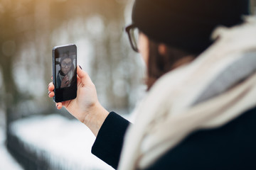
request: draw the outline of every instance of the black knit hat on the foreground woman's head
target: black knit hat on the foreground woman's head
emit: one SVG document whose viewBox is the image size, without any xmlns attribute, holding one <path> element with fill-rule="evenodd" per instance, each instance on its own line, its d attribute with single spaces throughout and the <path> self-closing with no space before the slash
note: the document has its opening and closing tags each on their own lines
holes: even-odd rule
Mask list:
<svg viewBox="0 0 256 170">
<path fill-rule="evenodd" d="M 136 0 L 135 26 L 149 38 L 187 52 L 203 52 L 217 26 L 242 23 L 248 0 Z"/>
</svg>

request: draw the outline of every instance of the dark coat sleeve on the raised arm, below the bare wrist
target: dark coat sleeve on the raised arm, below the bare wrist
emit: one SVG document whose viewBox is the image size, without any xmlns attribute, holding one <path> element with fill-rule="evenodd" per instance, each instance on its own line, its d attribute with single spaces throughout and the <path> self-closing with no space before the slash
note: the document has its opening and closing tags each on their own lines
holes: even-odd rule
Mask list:
<svg viewBox="0 0 256 170">
<path fill-rule="evenodd" d="M 110 112 L 92 145 L 92 154 L 117 169 L 129 121 Z"/>
</svg>

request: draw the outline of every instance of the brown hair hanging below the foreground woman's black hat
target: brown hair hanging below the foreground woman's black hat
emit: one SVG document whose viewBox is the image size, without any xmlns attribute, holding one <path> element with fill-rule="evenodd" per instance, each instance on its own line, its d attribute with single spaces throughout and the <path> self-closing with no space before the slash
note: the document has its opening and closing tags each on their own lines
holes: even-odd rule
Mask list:
<svg viewBox="0 0 256 170">
<path fill-rule="evenodd" d="M 148 90 L 155 81 L 167 72 L 179 67 L 181 64 L 191 62 L 198 54 L 167 46 L 166 55 L 159 54 L 161 43 L 149 39 L 149 61 L 147 66 L 146 85 Z"/>
</svg>

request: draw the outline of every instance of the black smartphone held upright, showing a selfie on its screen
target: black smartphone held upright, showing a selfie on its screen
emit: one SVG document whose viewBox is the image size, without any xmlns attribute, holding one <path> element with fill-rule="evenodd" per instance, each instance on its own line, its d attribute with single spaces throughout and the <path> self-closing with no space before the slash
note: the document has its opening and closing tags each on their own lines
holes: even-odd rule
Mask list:
<svg viewBox="0 0 256 170">
<path fill-rule="evenodd" d="M 53 47 L 53 84 L 55 102 L 68 101 L 77 96 L 77 47 Z"/>
</svg>

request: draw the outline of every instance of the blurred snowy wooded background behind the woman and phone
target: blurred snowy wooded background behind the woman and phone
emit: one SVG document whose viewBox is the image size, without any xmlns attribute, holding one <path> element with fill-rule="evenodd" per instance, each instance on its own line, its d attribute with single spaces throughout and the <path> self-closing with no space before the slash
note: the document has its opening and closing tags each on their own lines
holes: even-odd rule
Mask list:
<svg viewBox="0 0 256 170">
<path fill-rule="evenodd" d="M 73 43 L 100 103 L 129 118 L 146 89 L 144 63 L 124 33 L 132 3 L 0 0 L 0 169 L 111 169 L 90 154 L 90 130 L 58 111 L 47 87 L 53 47 Z"/>
</svg>

